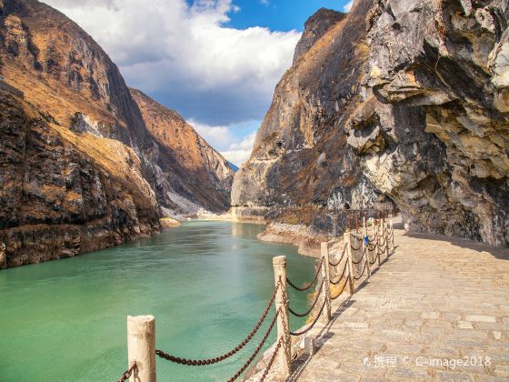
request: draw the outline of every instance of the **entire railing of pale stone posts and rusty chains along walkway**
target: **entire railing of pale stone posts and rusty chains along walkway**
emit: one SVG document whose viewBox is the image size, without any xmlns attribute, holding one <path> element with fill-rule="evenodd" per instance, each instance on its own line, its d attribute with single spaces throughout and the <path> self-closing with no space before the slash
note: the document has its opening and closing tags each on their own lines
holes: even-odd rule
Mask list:
<svg viewBox="0 0 509 382">
<path fill-rule="evenodd" d="M 358 226 L 354 233 L 350 230 L 344 233 L 344 247 L 336 261 L 331 261 L 332 256 L 329 253 L 327 243 L 322 243 L 321 256 L 313 279 L 302 287 L 296 286 L 290 278 L 286 277 L 286 257 L 274 257 L 274 291 L 260 319 L 256 322 L 255 327 L 253 327 L 249 334 L 236 347 L 221 356 L 193 359 L 176 357 L 163 350 L 155 349 L 155 318 L 152 316 L 127 317 L 128 362 L 130 367 L 125 370 L 118 381 L 124 382 L 130 379 L 131 381 L 142 380 L 146 382 L 155 382 L 155 356 L 175 364 L 189 367 L 206 367 L 223 362 L 240 352 L 255 337 L 273 306 L 275 314 L 270 324 L 268 324 L 264 336 L 255 347 L 250 357 L 247 358 L 244 365 L 240 367 L 235 375 L 229 378 L 228 381 L 235 381 L 245 373 L 255 358 L 258 357 L 267 338 L 273 332 L 274 327 L 277 328 L 277 340 L 272 355 L 264 368 L 261 380 L 264 381 L 268 376 L 270 369 L 274 366 L 276 357 L 279 357 L 279 362 L 276 363 L 278 366 L 278 375 L 283 378 L 288 377 L 292 361 L 291 337 L 303 336 L 310 332 L 318 320 L 323 317 L 324 311 L 324 317 L 330 320 L 331 301 L 340 297 L 344 293 L 346 286 L 350 288 L 350 295 L 354 295 L 355 282 L 361 280 L 366 272 L 369 279 L 371 277 L 371 266 L 374 266 L 376 262 L 378 262 L 378 266 L 381 265 L 381 255 L 385 254 L 388 257 L 391 252 L 394 252 L 394 228 L 392 221 L 390 225 L 387 225 L 384 219 L 374 219 L 370 223 L 371 226 L 367 226 L 364 218 L 362 233 L 359 232 Z M 359 238 L 359 235 L 362 235 L 362 238 Z M 353 244 L 353 238 L 355 245 Z M 359 241 L 361 243 L 360 246 L 358 245 Z M 360 254 L 360 257 L 355 260 L 353 259 L 354 252 L 357 253 L 357 255 Z M 331 267 L 332 273 L 334 273 L 334 279 L 331 275 Z M 343 269 L 341 273 L 336 272 L 338 267 Z M 319 277 L 321 281 L 318 284 L 316 282 Z M 316 285 L 315 296 L 310 307 L 303 313 L 294 311 L 294 309 L 290 307 L 286 287 L 292 286 L 297 291 L 307 291 L 314 285 Z M 334 296 L 331 295 L 331 286 L 337 286 L 339 288 L 339 292 L 336 292 Z M 317 310 L 317 307 L 320 307 L 320 309 Z M 315 314 L 313 312 L 315 312 Z M 289 313 L 296 317 L 308 317 L 314 314 L 314 317 L 309 324 L 301 329 L 290 331 Z"/>
</svg>

